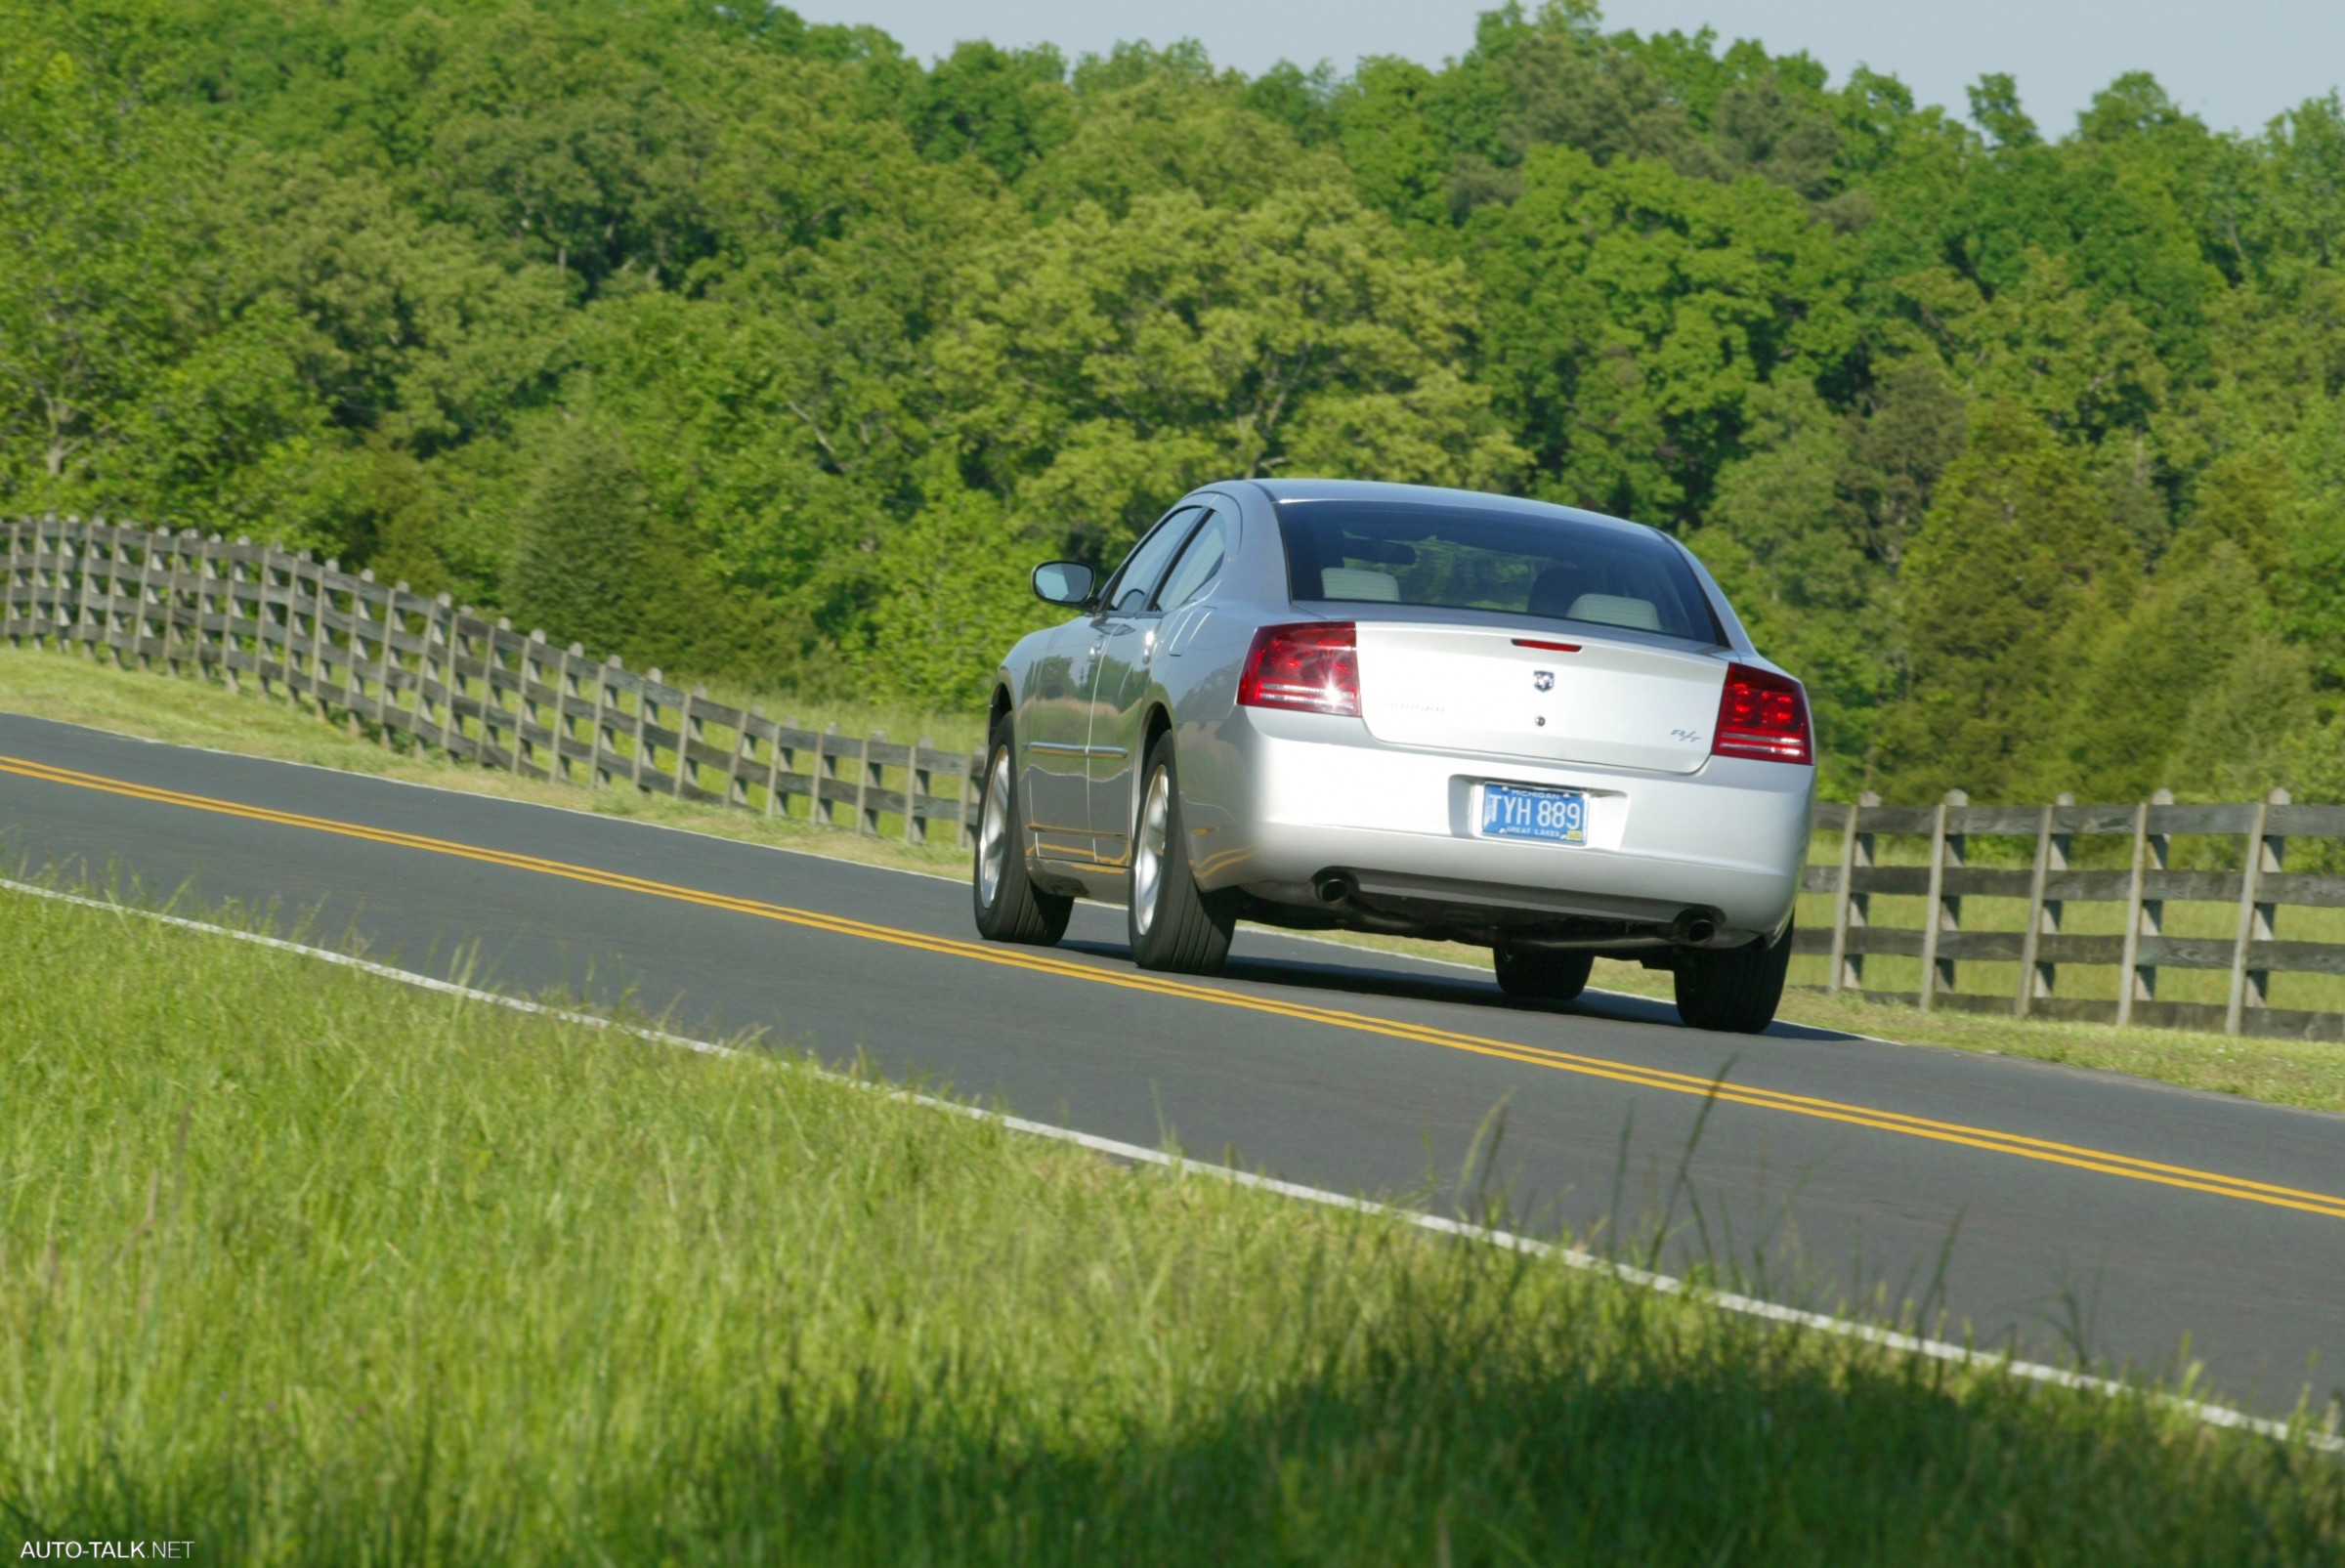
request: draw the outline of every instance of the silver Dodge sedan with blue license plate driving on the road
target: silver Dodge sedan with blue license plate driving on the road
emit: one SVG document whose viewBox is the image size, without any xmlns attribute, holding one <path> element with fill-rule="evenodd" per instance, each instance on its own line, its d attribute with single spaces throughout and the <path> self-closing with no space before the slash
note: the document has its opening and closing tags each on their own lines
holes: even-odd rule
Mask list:
<svg viewBox="0 0 2345 1568">
<path fill-rule="evenodd" d="M 1180 502 L 994 675 L 978 930 L 1130 909 L 1142 968 L 1238 919 L 1489 947 L 1515 996 L 1595 956 L 1702 1029 L 1775 1015 L 1808 698 L 1651 527 L 1463 490 L 1233 480 Z"/>
</svg>

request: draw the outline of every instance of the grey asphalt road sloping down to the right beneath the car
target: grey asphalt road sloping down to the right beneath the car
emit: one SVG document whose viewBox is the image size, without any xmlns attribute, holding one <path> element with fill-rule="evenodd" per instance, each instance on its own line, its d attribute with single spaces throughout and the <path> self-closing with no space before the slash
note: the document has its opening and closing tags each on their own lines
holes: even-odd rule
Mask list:
<svg viewBox="0 0 2345 1568">
<path fill-rule="evenodd" d="M 277 905 L 431 975 L 476 949 L 476 984 L 631 994 L 685 1031 L 861 1050 L 1313 1186 L 1503 1193 L 1508 1223 L 1639 1256 L 1665 1235 L 1665 1266 L 1794 1305 L 1928 1298 L 2038 1359 L 2171 1371 L 2188 1345 L 2244 1406 L 2345 1397 L 2338 1116 L 1822 1029 L 1710 1036 L 1627 996 L 1522 1005 L 1487 970 L 1252 928 L 1222 980 L 1144 977 L 1121 909 L 1079 907 L 1055 952 L 992 947 L 961 881 L 0 715 L 19 865 Z"/>
</svg>

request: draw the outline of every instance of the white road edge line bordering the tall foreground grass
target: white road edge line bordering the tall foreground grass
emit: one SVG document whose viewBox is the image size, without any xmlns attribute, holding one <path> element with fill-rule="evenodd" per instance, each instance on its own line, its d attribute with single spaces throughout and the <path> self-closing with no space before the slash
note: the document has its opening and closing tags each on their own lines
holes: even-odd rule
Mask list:
<svg viewBox="0 0 2345 1568">
<path fill-rule="evenodd" d="M 668 1034 L 664 1029 L 643 1029 L 635 1024 L 617 1024 L 610 1017 L 596 1013 L 579 1013 L 572 1008 L 551 1008 L 539 1001 L 528 1001 L 523 996 L 507 996 L 502 991 L 483 991 L 478 987 L 457 984 L 453 980 L 434 980 L 429 975 L 417 975 L 413 970 L 394 968 L 389 963 L 375 963 L 373 959 L 359 959 L 354 954 L 338 954 L 328 947 L 310 947 L 307 942 L 288 942 L 286 938 L 260 935 L 258 930 L 237 930 L 235 926 L 216 926 L 211 921 L 195 921 L 183 914 L 164 914 L 159 909 L 138 909 L 134 905 L 122 905 L 106 898 L 84 898 L 80 893 L 63 893 L 59 888 L 42 888 L 38 884 L 16 881 L 12 877 L 0 877 L 0 888 L 12 893 L 26 893 L 30 898 L 47 898 L 63 905 L 80 905 L 84 909 L 103 909 L 106 914 L 131 914 L 148 921 L 159 921 L 164 926 L 178 926 L 183 930 L 202 930 L 206 935 L 220 935 L 237 942 L 251 942 L 256 947 L 274 947 L 277 952 L 303 954 L 305 959 L 319 959 L 324 963 L 340 963 L 342 968 L 363 970 L 382 980 L 396 980 L 399 984 L 413 984 L 424 991 L 441 991 L 446 996 L 462 996 L 467 1001 L 488 1003 L 492 1008 L 511 1008 L 514 1013 L 532 1013 L 539 1017 L 560 1020 L 567 1024 L 584 1024 L 586 1029 L 619 1029 L 624 1034 L 652 1041 L 659 1045 L 675 1045 L 711 1057 L 739 1057 L 746 1055 L 734 1045 L 720 1045 L 715 1041 L 694 1041 L 680 1034 Z M 919 1095 L 915 1090 L 891 1090 L 886 1085 L 868 1083 L 863 1078 L 851 1078 L 847 1073 L 816 1066 L 811 1062 L 795 1064 L 802 1071 L 818 1073 L 832 1083 L 844 1083 L 858 1090 L 872 1090 L 889 1095 L 893 1099 L 905 1099 L 931 1111 L 947 1111 L 952 1116 L 966 1116 L 973 1120 L 994 1123 L 1008 1132 L 1025 1132 L 1032 1137 L 1053 1139 L 1060 1144 L 1074 1144 L 1076 1148 L 1088 1148 L 1093 1153 L 1104 1153 L 1119 1160 L 1135 1160 L 1142 1165 L 1161 1165 L 1175 1174 L 1198 1174 L 1219 1181 L 1231 1181 L 1236 1186 L 1257 1188 L 1264 1193 L 1276 1193 L 1280 1198 L 1294 1198 L 1299 1202 L 1316 1202 L 1330 1209 L 1353 1209 L 1358 1214 L 1381 1214 L 1398 1219 L 1402 1223 L 1416 1226 L 1419 1230 L 1430 1230 L 1435 1235 L 1454 1235 L 1470 1242 L 1482 1242 L 1489 1247 L 1501 1247 L 1505 1252 L 1522 1252 L 1541 1259 L 1557 1259 L 1569 1268 L 1611 1275 L 1623 1284 L 1637 1284 L 1642 1289 L 1658 1291 L 1663 1296 L 1686 1296 L 1691 1301 L 1707 1301 L 1710 1305 L 1724 1308 L 1728 1313 L 1740 1313 L 1745 1317 L 1759 1317 L 1763 1322 L 1817 1329 L 1824 1334 L 1836 1334 L 1843 1338 L 1855 1338 L 1867 1345 L 1878 1345 L 1883 1350 L 1895 1350 L 1902 1355 L 1921 1355 L 1935 1362 L 1951 1362 L 1956 1366 L 1974 1366 L 1984 1371 L 2003 1371 L 2014 1378 L 2026 1378 L 2031 1383 L 2047 1383 L 2052 1388 L 2071 1388 L 2096 1395 L 2139 1395 L 2155 1399 L 2169 1409 L 2176 1409 L 2193 1420 L 2202 1420 L 2211 1427 L 2228 1427 L 2239 1432 L 2256 1432 L 2261 1437 L 2277 1437 L 2282 1441 L 2300 1441 L 2319 1453 L 2345 1453 L 2345 1437 L 2336 1432 L 2336 1411 L 2329 1416 L 2326 1427 L 2291 1425 L 2284 1420 L 2272 1420 L 2268 1416 L 2249 1416 L 2247 1411 L 2235 1411 L 2225 1404 L 2207 1404 L 2202 1399 L 2186 1399 L 2181 1395 L 2167 1395 L 2157 1390 L 2129 1388 L 2113 1378 L 2094 1378 L 2080 1371 L 2068 1371 L 2064 1366 L 2047 1366 L 2042 1362 L 2021 1362 L 2010 1355 L 1996 1355 L 1989 1350 L 1972 1350 L 1970 1345 L 1956 1345 L 1942 1338 L 1923 1338 L 1918 1334 L 1902 1334 L 1897 1329 L 1881 1329 L 1864 1322 L 1853 1322 L 1846 1317 L 1831 1317 L 1827 1313 L 1806 1313 L 1801 1308 L 1787 1308 L 1775 1301 L 1763 1301 L 1759 1296 L 1742 1296 L 1738 1291 L 1717 1291 L 1698 1284 L 1688 1284 L 1674 1275 L 1660 1275 L 1646 1268 L 1634 1268 L 1630 1263 L 1616 1263 L 1602 1259 L 1583 1247 L 1566 1247 L 1559 1242 L 1543 1242 L 1538 1238 L 1517 1235 L 1513 1230 L 1494 1230 L 1489 1226 L 1475 1226 L 1461 1219 L 1445 1219 L 1440 1214 L 1423 1214 L 1416 1209 L 1402 1209 L 1369 1198 L 1346 1198 L 1344 1193 L 1330 1193 L 1316 1186 L 1301 1186 L 1297 1181 L 1278 1181 L 1276 1177 L 1262 1177 L 1245 1170 L 1233 1170 L 1229 1165 L 1205 1165 L 1189 1160 L 1184 1155 L 1165 1153 L 1161 1148 L 1142 1148 L 1140 1144 L 1123 1144 L 1119 1139 L 1100 1137 L 1095 1132 L 1076 1132 L 1074 1127 L 1055 1127 L 1051 1123 L 1025 1120 L 1022 1116 L 1004 1116 L 1001 1111 L 987 1111 L 983 1106 L 968 1106 L 952 1099 L 938 1099 L 936 1095 Z"/>
</svg>

